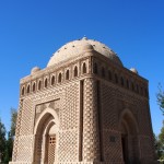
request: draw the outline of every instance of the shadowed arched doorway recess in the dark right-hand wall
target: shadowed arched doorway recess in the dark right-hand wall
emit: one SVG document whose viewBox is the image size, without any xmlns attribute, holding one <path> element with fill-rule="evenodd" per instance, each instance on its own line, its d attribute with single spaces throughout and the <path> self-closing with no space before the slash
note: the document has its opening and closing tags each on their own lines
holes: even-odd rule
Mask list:
<svg viewBox="0 0 164 164">
<path fill-rule="evenodd" d="M 122 160 L 126 164 L 137 164 L 140 161 L 138 124 L 129 109 L 125 109 L 121 113 L 119 129 L 121 132 Z"/>
</svg>

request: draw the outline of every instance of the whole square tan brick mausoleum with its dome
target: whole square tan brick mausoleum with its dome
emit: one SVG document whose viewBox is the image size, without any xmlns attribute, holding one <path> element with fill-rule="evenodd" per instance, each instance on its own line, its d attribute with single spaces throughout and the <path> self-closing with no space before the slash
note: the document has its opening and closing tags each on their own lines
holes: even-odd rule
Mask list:
<svg viewBox="0 0 164 164">
<path fill-rule="evenodd" d="M 21 80 L 10 164 L 155 163 L 148 80 L 83 37 Z"/>
</svg>

